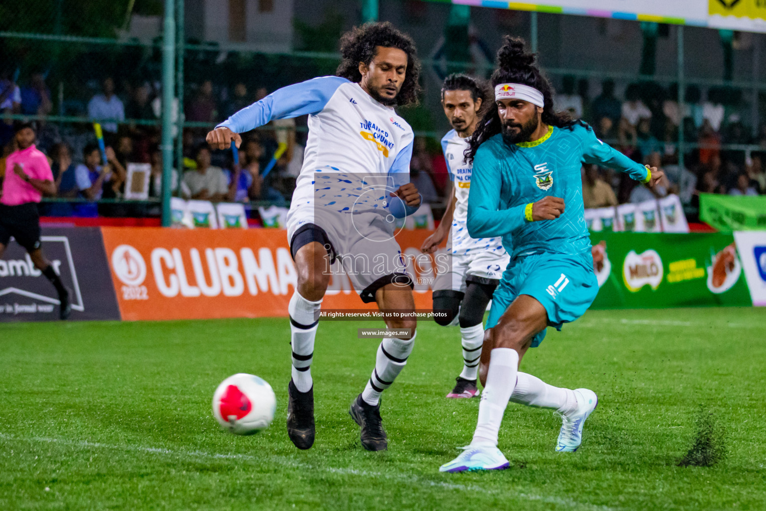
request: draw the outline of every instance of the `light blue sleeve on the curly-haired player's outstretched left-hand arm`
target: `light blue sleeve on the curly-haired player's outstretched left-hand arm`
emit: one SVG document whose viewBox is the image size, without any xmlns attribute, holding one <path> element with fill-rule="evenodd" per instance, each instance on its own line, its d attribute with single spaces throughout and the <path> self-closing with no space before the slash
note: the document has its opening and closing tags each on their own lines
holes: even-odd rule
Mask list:
<svg viewBox="0 0 766 511">
<path fill-rule="evenodd" d="M 234 133 L 244 133 L 264 126 L 270 120 L 290 119 L 320 112 L 342 84 L 342 77 L 319 77 L 293 84 L 270 93 L 263 100 L 243 108 L 215 127 L 227 127 Z"/>
</svg>

